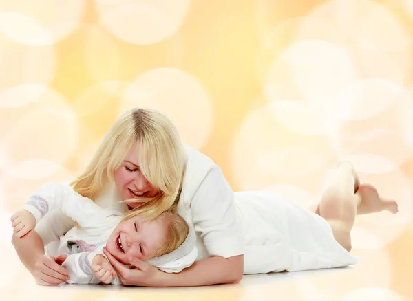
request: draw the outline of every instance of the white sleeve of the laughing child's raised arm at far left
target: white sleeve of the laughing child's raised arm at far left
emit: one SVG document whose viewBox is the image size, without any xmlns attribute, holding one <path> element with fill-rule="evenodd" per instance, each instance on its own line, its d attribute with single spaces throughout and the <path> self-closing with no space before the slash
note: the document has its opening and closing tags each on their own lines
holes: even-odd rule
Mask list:
<svg viewBox="0 0 413 301">
<path fill-rule="evenodd" d="M 28 210 L 39 222 L 45 214 L 59 210 L 81 227 L 96 226 L 96 221 L 109 216 L 92 200 L 82 197 L 65 183 L 46 183 L 30 197 L 23 210 Z"/>
</svg>

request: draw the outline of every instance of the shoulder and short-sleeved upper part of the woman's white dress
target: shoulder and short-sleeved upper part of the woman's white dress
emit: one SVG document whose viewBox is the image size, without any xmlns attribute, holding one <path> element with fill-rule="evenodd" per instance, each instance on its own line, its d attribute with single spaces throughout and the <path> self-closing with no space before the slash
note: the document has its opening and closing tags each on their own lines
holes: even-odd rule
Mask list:
<svg viewBox="0 0 413 301">
<path fill-rule="evenodd" d="M 197 233 L 198 260 L 242 255 L 240 216 L 231 186 L 209 157 L 193 148 L 187 148 L 187 154 L 177 212 Z"/>
</svg>

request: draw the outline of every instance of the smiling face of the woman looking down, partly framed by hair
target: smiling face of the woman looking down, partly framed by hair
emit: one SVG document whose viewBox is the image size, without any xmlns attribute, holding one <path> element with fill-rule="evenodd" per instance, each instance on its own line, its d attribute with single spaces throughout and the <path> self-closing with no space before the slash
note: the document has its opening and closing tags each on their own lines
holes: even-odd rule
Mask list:
<svg viewBox="0 0 413 301">
<path fill-rule="evenodd" d="M 114 172 L 114 179 L 118 192 L 123 199 L 142 199 L 156 197 L 159 190 L 142 175 L 139 168 L 140 143 L 136 142 L 122 165 Z M 129 207 L 136 208 L 140 203 L 127 203 Z"/>
</svg>

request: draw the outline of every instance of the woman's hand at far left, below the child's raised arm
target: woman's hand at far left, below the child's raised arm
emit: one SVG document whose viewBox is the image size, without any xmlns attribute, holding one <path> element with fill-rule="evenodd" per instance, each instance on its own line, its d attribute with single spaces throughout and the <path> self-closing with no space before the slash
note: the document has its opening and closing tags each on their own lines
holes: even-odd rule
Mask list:
<svg viewBox="0 0 413 301">
<path fill-rule="evenodd" d="M 62 267 L 66 260 L 66 255 L 62 254 L 57 257 L 42 255 L 34 263 L 30 271 L 38 285 L 59 285 L 69 280 L 67 269 Z"/>
</svg>

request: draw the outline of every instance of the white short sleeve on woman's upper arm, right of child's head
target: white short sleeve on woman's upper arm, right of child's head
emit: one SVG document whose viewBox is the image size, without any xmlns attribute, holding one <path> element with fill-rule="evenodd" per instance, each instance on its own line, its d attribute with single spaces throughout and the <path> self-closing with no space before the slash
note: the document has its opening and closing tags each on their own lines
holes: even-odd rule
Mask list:
<svg viewBox="0 0 413 301">
<path fill-rule="evenodd" d="M 242 255 L 240 223 L 234 193 L 220 168 L 213 168 L 204 178 L 191 201 L 195 231 L 209 256 L 224 258 Z"/>
</svg>

